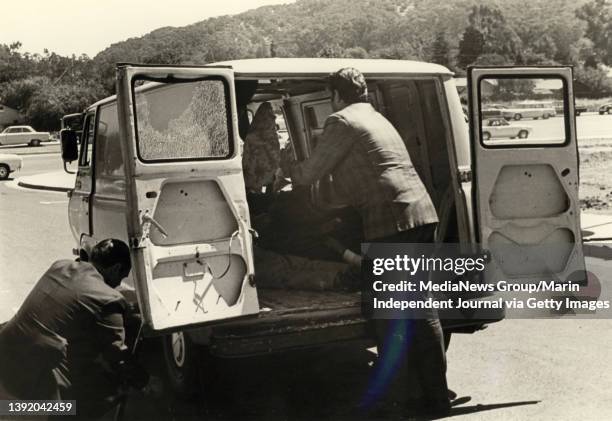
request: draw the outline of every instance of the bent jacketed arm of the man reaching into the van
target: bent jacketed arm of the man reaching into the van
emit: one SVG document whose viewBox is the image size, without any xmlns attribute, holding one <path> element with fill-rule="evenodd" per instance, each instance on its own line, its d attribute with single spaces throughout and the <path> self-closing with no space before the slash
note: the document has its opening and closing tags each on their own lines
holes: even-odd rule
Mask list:
<svg viewBox="0 0 612 421">
<path fill-rule="evenodd" d="M 344 120 L 335 116 L 328 118 L 323 134 L 310 158 L 291 166 L 293 184 L 312 184 L 330 174 L 353 145 L 349 130 Z"/>
</svg>

